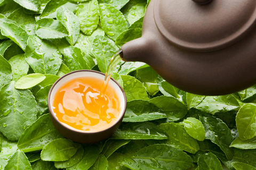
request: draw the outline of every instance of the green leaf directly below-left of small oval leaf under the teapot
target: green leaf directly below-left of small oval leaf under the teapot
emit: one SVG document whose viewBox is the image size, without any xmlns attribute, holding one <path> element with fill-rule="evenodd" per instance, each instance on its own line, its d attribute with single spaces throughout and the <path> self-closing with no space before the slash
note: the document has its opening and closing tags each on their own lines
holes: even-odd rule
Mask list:
<svg viewBox="0 0 256 170">
<path fill-rule="evenodd" d="M 197 141 L 190 137 L 181 125 L 177 123 L 164 123 L 160 124 L 159 127 L 164 130 L 169 137 L 167 141 L 161 141 L 161 143 L 166 143 L 167 145 L 185 150 L 191 154 L 195 154 L 199 150 Z"/>
</svg>

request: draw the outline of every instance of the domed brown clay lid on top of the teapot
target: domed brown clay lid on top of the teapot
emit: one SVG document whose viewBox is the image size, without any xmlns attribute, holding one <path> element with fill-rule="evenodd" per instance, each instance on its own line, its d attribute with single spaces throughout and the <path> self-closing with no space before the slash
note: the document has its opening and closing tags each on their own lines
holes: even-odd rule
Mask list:
<svg viewBox="0 0 256 170">
<path fill-rule="evenodd" d="M 174 45 L 195 52 L 225 48 L 256 24 L 255 0 L 155 1 L 158 30 Z"/>
</svg>

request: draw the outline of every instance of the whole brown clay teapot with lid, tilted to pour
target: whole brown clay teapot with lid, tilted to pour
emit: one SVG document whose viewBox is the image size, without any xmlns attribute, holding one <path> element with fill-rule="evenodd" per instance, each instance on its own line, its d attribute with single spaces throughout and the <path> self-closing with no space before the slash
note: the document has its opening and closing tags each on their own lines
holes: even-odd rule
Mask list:
<svg viewBox="0 0 256 170">
<path fill-rule="evenodd" d="M 124 61 L 149 64 L 173 86 L 230 94 L 256 83 L 255 0 L 151 0 Z"/>
</svg>

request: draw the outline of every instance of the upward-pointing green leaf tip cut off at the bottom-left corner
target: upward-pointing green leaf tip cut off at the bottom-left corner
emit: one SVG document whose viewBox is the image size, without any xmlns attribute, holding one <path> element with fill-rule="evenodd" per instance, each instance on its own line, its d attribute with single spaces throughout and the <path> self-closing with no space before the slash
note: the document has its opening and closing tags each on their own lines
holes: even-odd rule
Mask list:
<svg viewBox="0 0 256 170">
<path fill-rule="evenodd" d="M 28 169 L 32 170 L 31 165 L 28 161 L 28 158 L 24 152 L 18 150 L 15 152 L 12 157 L 8 160 L 4 169 L 13 169 L 13 170 L 23 170 Z"/>
</svg>

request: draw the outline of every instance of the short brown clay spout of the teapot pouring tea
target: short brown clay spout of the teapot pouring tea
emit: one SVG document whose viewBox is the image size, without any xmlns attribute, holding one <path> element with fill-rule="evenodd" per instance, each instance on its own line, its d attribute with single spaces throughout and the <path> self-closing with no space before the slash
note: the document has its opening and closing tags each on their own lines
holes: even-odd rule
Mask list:
<svg viewBox="0 0 256 170">
<path fill-rule="evenodd" d="M 145 62 L 149 49 L 149 42 L 141 37 L 124 44 L 120 56 L 126 62 Z"/>
</svg>

